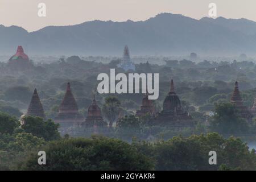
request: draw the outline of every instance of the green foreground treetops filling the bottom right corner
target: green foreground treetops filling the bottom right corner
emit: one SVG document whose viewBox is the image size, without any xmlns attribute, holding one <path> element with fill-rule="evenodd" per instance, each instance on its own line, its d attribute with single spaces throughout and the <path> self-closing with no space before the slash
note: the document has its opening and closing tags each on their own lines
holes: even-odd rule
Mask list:
<svg viewBox="0 0 256 182">
<path fill-rule="evenodd" d="M 156 143 L 135 142 L 143 154 L 154 156 L 156 170 L 255 170 L 255 150 L 239 138 L 224 139 L 217 133 L 174 137 Z M 217 165 L 209 165 L 209 151 L 216 151 Z"/>
</svg>

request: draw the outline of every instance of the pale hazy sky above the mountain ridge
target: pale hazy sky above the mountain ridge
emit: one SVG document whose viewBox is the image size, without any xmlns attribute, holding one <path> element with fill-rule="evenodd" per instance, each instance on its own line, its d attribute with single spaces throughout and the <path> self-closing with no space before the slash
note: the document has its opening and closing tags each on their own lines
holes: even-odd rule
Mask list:
<svg viewBox="0 0 256 182">
<path fill-rule="evenodd" d="M 35 31 L 49 25 L 78 24 L 88 20 L 146 20 L 158 13 L 208 16 L 209 3 L 217 16 L 247 18 L 256 22 L 256 0 L 0 0 L 0 24 Z M 38 4 L 46 4 L 46 17 L 38 16 Z"/>
</svg>

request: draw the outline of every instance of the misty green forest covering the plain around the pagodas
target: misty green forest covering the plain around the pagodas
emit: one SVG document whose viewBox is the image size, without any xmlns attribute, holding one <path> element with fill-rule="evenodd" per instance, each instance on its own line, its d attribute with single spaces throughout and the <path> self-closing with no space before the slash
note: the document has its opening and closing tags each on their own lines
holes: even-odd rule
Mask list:
<svg viewBox="0 0 256 182">
<path fill-rule="evenodd" d="M 71 127 L 66 131 L 71 137 L 61 133 L 66 134 L 64 139 L 60 137 L 58 125 L 37 117 L 22 118 L 24 124 L 20 126 L 17 118 L 23 114 L 21 111 L 26 111 L 31 90 L 35 87 L 47 118 L 54 119 L 67 82 L 71 82 L 79 111 L 86 117 L 98 73 L 109 73 L 110 68 L 123 72 L 117 68 L 120 61 L 116 59 L 82 59 L 71 56 L 66 60 L 35 64 L 35 70 L 11 75 L 0 73 L 0 110 L 5 112 L 0 113 L 0 169 L 256 169 L 255 151 L 235 138 L 255 140 L 256 119 L 246 122 L 236 107 L 229 103 L 234 81 L 237 80 L 244 105 L 253 105 L 256 66 L 250 60 L 230 63 L 225 59 L 193 62 L 171 60 L 171 57 L 135 58 L 144 62 L 136 64 L 136 72 L 159 73 L 159 99 L 154 103 L 156 111 L 162 110 L 163 100 L 170 90 L 170 78 L 173 78 L 175 92 L 184 110 L 192 115 L 195 127 L 154 126 L 150 115 L 135 117 L 135 110 L 141 106 L 142 94 L 96 95 L 104 120 L 113 126 L 102 133 L 100 129 L 97 132 L 111 138 L 72 138 L 90 137 L 96 130 L 86 133 L 85 130 L 80 132 L 80 127 Z M 147 60 L 155 64 L 146 63 Z M 5 63 L 2 65 L 4 69 Z M 225 138 L 209 133 L 212 131 Z M 129 142 L 137 140 L 129 144 L 114 138 Z M 47 152 L 47 166 L 38 166 L 39 150 Z M 211 150 L 217 152 L 216 166 L 208 163 Z"/>
</svg>

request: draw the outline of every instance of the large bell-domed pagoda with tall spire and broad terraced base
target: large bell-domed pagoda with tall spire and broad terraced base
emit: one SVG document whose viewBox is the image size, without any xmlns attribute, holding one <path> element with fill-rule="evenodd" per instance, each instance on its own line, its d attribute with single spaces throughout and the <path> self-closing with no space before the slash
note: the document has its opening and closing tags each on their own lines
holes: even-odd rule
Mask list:
<svg viewBox="0 0 256 182">
<path fill-rule="evenodd" d="M 174 127 L 193 126 L 191 115 L 183 110 L 180 99 L 175 93 L 173 80 L 171 80 L 170 92 L 164 99 L 163 110 L 156 117 L 155 124 Z"/>
</svg>

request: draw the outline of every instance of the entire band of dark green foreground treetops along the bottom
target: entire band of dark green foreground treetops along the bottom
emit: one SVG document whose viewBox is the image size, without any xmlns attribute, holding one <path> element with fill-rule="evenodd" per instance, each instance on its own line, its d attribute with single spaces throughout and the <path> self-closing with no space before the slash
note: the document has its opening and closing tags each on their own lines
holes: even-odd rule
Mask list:
<svg viewBox="0 0 256 182">
<path fill-rule="evenodd" d="M 255 150 L 241 139 L 224 139 L 217 133 L 174 137 L 132 144 L 105 137 L 63 139 L 43 148 L 47 164 L 38 165 L 32 154 L 20 169 L 31 170 L 255 170 Z M 217 164 L 210 165 L 209 151 Z"/>
</svg>

